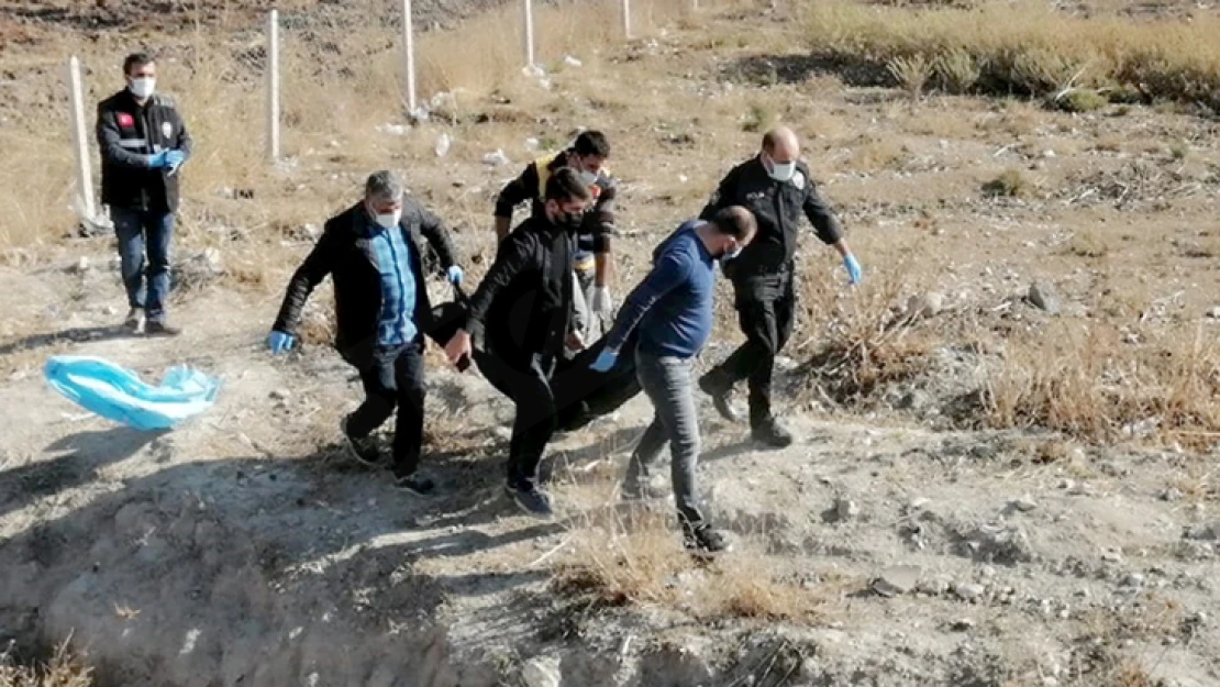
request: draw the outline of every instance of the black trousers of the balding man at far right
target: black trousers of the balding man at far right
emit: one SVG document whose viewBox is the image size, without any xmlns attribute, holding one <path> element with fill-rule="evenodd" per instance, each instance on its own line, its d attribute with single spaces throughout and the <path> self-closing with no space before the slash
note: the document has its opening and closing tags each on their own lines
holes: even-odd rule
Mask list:
<svg viewBox="0 0 1220 687">
<path fill-rule="evenodd" d="M 792 336 L 797 305 L 792 270 L 739 278 L 733 282 L 733 288 L 745 343 L 704 377 L 708 384 L 720 390 L 728 390 L 737 382 L 749 379 L 750 427 L 760 427 L 773 420 L 771 375 L 775 356 Z"/>
</svg>

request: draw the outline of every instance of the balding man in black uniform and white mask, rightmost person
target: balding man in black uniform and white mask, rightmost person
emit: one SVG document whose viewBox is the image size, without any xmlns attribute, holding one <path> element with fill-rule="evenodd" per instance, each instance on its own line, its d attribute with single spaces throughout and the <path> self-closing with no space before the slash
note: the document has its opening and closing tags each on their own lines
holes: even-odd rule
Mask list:
<svg viewBox="0 0 1220 687">
<path fill-rule="evenodd" d="M 767 132 L 759 155 L 728 172 L 700 215 L 711 220 L 720 210 L 741 205 L 758 220 L 758 236 L 725 266 L 745 343 L 704 375 L 699 387 L 712 397 L 721 415 L 736 421 L 730 394 L 737 382 L 749 379 L 752 434 L 776 448 L 792 444 L 792 434 L 771 414 L 771 373 L 776 354 L 792 336 L 797 306 L 793 256 L 802 215 L 814 225 L 817 238 L 842 255 L 852 283 L 861 277 L 838 220 L 799 157 L 800 142 L 792 129 Z"/>
</svg>

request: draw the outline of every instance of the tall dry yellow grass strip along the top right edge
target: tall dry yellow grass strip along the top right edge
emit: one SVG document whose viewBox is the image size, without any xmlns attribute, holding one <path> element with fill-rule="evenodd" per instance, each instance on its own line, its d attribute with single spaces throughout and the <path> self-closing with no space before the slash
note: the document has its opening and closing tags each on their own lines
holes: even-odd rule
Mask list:
<svg viewBox="0 0 1220 687">
<path fill-rule="evenodd" d="M 808 2 L 813 50 L 883 67 L 921 57 L 963 65 L 993 93 L 1046 95 L 1069 87 L 1132 85 L 1148 98 L 1220 107 L 1220 18 L 1131 21 L 1070 17 L 1037 2 L 978 7 L 884 7 Z M 881 72 L 883 73 L 883 70 Z M 966 72 L 969 73 L 969 71 Z"/>
</svg>

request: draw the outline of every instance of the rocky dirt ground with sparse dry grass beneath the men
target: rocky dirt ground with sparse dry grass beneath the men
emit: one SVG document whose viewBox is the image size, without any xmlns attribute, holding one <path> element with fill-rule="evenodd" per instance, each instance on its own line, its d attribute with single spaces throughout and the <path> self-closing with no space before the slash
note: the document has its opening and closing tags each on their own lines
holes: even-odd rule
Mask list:
<svg viewBox="0 0 1220 687">
<path fill-rule="evenodd" d="M 581 55 L 549 89 L 505 85 L 453 121 L 296 135 L 295 164 L 254 199 L 188 176 L 181 339 L 116 336 L 107 239 L 7 249 L 0 638 L 30 655 L 71 635 L 102 686 L 1220 683 L 1220 437 L 1158 434 L 1153 417 L 1105 442 L 991 428 L 980 400 L 1006 343 L 1046 342 L 1036 369 L 1083 325 L 1130 334 L 1114 356 L 1182 331 L 1215 340 L 1215 121 L 913 103 L 822 71 L 782 9 L 734 12 Z M 21 107 L 6 116 L 23 122 Z M 809 237 L 783 361 L 794 447 L 759 450 L 703 408 L 703 489 L 736 543 L 721 560 L 687 559 L 662 515 L 616 505 L 644 399 L 556 439 L 560 513 L 539 522 L 499 495 L 511 408 L 437 351 L 427 460 L 440 494 L 427 500 L 344 459 L 337 426 L 359 384 L 318 343 L 326 293 L 314 345 L 262 351 L 309 225 L 376 164 L 334 151 L 351 138 L 409 167 L 477 275 L 511 174 L 483 155 L 499 148 L 515 167 L 528 138 L 606 128 L 625 181 L 622 292 L 772 118 L 806 135 L 869 283 L 848 289 Z M 454 143 L 438 157 L 442 134 Z M 1020 193 L 988 196 L 1005 172 Z M 1030 298 L 1035 282 L 1044 297 Z M 721 310 L 705 365 L 737 337 L 727 299 Z M 833 362 L 822 354 L 853 322 L 913 310 L 899 329 L 913 372 L 864 393 L 850 370 L 810 367 Z M 152 377 L 192 364 L 224 388 L 198 421 L 142 434 L 54 395 L 40 370 L 57 353 Z"/>
</svg>

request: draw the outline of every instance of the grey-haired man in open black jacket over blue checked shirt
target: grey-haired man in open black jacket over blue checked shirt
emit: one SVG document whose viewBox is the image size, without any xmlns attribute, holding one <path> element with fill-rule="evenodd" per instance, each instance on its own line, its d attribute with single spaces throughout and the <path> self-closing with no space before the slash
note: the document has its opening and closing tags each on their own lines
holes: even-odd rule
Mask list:
<svg viewBox="0 0 1220 687">
<path fill-rule="evenodd" d="M 381 455 L 372 432 L 398 406 L 394 427 L 394 477 L 398 486 L 428 494 L 433 482 L 422 475 L 423 334 L 431 327 L 432 305 L 422 256 L 431 245 L 453 284 L 462 281 L 449 231 L 404 195 L 403 181 L 376 172 L 365 184 L 365 198 L 326 222 L 322 238 L 293 275 L 279 316 L 267 338 L 273 354 L 295 344 L 292 333 L 314 288 L 334 279 L 334 312 L 339 354 L 360 371 L 365 401 L 343 421 L 353 455 L 377 465 Z"/>
</svg>

